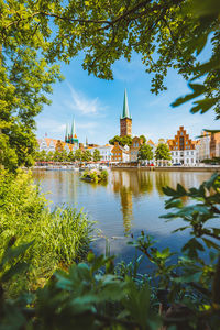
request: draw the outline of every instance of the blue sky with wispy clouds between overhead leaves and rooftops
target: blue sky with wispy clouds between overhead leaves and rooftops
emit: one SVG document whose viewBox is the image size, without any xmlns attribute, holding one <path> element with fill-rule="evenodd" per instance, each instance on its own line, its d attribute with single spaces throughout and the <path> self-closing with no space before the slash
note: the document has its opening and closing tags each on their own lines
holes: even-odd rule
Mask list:
<svg viewBox="0 0 220 330">
<path fill-rule="evenodd" d="M 206 52 L 205 52 L 206 55 Z M 205 58 L 206 56 L 204 56 Z M 62 64 L 65 80 L 56 82 L 51 106 L 44 106 L 36 118 L 37 138 L 65 139 L 66 124 L 76 122 L 79 142 L 106 144 L 120 134 L 120 114 L 123 110 L 124 89 L 128 91 L 129 109 L 132 114 L 132 135 L 144 134 L 157 143 L 158 139 L 174 139 L 178 128 L 184 125 L 190 139 L 200 135 L 202 129 L 219 129 L 215 112 L 191 114 L 190 102 L 172 108 L 178 97 L 190 92 L 187 81 L 174 69 L 168 72 L 167 90 L 158 96 L 151 89 L 152 75 L 138 54 L 132 61 L 118 61 L 113 66 L 114 80 L 107 81 L 88 75 L 81 67 L 82 56 L 69 65 Z"/>
</svg>

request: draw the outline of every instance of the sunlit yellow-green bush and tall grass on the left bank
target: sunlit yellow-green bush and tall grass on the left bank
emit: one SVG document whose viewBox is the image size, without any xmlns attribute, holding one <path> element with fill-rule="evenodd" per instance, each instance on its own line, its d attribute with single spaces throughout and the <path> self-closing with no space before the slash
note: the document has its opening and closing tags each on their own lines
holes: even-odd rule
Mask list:
<svg viewBox="0 0 220 330">
<path fill-rule="evenodd" d="M 89 246 L 91 222 L 86 215 L 72 208 L 51 211 L 31 173 L 1 172 L 0 219 L 0 254 L 11 237 L 19 244 L 34 241 L 25 255 L 31 268 L 19 289 L 43 285 L 57 267 L 80 261 Z M 10 290 L 16 289 L 12 283 Z"/>
</svg>

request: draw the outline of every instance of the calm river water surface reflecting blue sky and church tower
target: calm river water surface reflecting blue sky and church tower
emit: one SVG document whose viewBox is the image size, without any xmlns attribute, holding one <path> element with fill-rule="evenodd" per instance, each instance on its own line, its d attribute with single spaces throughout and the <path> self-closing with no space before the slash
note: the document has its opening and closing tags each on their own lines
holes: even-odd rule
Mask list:
<svg viewBox="0 0 220 330">
<path fill-rule="evenodd" d="M 170 232 L 178 227 L 178 220 L 166 223 L 160 219 L 166 199 L 162 187 L 176 188 L 178 183 L 185 188 L 198 187 L 211 174 L 113 169 L 106 186 L 81 182 L 79 174 L 70 170 L 36 170 L 33 175 L 44 193 L 51 191 L 48 199 L 54 205 L 84 207 L 108 238 L 143 229 L 160 240 L 168 238 L 172 244 Z M 122 249 L 122 243 L 114 243 L 117 246 Z"/>
</svg>

